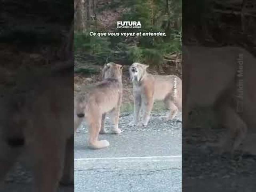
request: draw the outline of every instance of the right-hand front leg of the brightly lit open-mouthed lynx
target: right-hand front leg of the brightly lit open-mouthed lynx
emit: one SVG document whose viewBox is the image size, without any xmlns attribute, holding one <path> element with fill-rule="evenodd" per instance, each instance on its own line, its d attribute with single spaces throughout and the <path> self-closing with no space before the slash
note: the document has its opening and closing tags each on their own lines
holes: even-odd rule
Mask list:
<svg viewBox="0 0 256 192">
<path fill-rule="evenodd" d="M 150 119 L 150 114 L 154 105 L 153 97 L 145 97 L 142 100 L 143 116 L 142 126 L 147 126 Z"/>
</svg>

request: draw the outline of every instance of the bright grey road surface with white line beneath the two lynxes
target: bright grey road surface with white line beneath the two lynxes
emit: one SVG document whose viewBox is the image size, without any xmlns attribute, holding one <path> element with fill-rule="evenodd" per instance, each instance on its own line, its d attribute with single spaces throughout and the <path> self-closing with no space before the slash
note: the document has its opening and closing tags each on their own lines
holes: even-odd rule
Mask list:
<svg viewBox="0 0 256 192">
<path fill-rule="evenodd" d="M 83 124 L 75 137 L 75 192 L 181 192 L 181 122 L 159 115 L 147 127 L 129 127 L 131 114 L 122 114 L 124 132 L 101 135 L 110 146 L 100 150 L 87 148 Z"/>
</svg>

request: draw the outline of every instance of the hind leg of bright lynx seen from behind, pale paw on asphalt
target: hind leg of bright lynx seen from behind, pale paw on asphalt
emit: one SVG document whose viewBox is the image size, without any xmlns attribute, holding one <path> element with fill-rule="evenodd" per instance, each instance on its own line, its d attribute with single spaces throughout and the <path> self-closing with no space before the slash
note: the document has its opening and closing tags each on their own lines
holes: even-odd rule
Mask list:
<svg viewBox="0 0 256 192">
<path fill-rule="evenodd" d="M 107 140 L 98 140 L 100 133 L 102 114 L 99 114 L 98 109 L 88 110 L 88 126 L 89 126 L 89 147 L 92 149 L 100 149 L 109 146 Z"/>
</svg>

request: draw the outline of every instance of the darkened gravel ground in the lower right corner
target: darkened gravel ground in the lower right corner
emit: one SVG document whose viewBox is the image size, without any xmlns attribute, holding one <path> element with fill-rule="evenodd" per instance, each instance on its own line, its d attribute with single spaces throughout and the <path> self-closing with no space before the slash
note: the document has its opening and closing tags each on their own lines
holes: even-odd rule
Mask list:
<svg viewBox="0 0 256 192">
<path fill-rule="evenodd" d="M 182 190 L 189 192 L 252 192 L 256 190 L 256 156 L 236 150 L 218 153 L 221 128 L 183 130 Z"/>
</svg>

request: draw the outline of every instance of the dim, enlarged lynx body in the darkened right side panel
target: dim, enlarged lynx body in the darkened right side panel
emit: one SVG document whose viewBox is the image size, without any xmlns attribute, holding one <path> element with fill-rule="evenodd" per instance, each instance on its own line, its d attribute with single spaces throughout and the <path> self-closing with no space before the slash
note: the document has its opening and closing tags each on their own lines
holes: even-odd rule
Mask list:
<svg viewBox="0 0 256 192">
<path fill-rule="evenodd" d="M 256 59 L 238 47 L 183 47 L 184 110 L 183 126 L 195 106 L 212 106 L 220 123 L 228 129 L 220 142 L 221 151 L 232 151 L 256 126 Z M 238 72 L 242 66 L 241 72 Z M 243 98 L 238 83 L 242 80 Z M 240 92 L 241 94 L 241 92 Z"/>
</svg>

